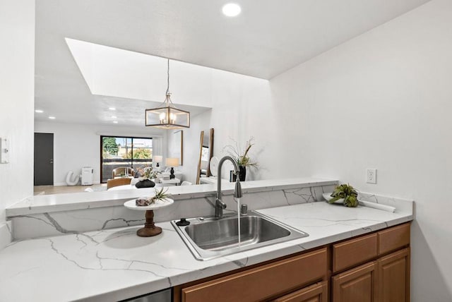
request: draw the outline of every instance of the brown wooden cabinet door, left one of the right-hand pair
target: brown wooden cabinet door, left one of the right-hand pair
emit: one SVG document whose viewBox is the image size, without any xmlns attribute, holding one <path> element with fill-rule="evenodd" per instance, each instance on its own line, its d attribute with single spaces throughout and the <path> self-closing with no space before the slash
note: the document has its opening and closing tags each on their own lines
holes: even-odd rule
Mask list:
<svg viewBox="0 0 452 302">
<path fill-rule="evenodd" d="M 333 277 L 333 302 L 376 302 L 376 261 Z"/>
</svg>

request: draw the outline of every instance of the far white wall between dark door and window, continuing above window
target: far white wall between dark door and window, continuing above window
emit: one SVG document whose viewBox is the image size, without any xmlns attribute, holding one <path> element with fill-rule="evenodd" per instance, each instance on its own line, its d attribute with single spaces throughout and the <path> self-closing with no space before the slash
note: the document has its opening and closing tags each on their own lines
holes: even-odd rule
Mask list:
<svg viewBox="0 0 452 302">
<path fill-rule="evenodd" d="M 80 174 L 82 167 L 94 168 L 94 183 L 100 183 L 100 135 L 164 136 L 165 132 L 151 128 L 119 125 L 102 126 L 54 121 L 36 122 L 35 132 L 54 133 L 54 185 L 66 186 L 66 174 Z"/>
</svg>

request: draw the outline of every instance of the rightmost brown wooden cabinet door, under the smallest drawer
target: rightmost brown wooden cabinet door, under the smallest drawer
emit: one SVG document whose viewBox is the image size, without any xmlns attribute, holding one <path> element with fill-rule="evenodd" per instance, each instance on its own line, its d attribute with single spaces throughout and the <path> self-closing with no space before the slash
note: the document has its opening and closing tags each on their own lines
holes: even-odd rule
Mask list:
<svg viewBox="0 0 452 302">
<path fill-rule="evenodd" d="M 410 249 L 381 258 L 378 269 L 379 302 L 409 302 Z"/>
</svg>

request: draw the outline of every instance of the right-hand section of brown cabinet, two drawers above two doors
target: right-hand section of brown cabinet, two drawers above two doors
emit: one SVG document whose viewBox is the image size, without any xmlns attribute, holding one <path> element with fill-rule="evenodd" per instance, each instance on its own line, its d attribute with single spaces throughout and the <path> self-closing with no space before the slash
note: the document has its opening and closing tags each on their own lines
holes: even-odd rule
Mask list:
<svg viewBox="0 0 452 302">
<path fill-rule="evenodd" d="M 334 272 L 371 261 L 331 278 L 332 301 L 409 302 L 409 245 L 409 223 L 333 244 Z"/>
</svg>

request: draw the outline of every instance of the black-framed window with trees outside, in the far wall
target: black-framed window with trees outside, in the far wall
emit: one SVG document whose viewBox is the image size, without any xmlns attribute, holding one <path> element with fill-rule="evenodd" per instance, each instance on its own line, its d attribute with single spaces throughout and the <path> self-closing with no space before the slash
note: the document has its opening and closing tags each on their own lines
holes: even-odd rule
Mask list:
<svg viewBox="0 0 452 302">
<path fill-rule="evenodd" d="M 129 167 L 133 171 L 153 163 L 153 139 L 100 136 L 100 178 L 112 179 L 113 169 Z"/>
</svg>

